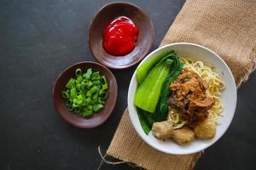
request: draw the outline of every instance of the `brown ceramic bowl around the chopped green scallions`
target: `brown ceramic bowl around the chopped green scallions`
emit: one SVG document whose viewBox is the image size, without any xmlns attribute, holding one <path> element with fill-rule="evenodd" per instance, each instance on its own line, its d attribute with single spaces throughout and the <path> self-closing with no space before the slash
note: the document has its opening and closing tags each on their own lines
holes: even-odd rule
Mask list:
<svg viewBox="0 0 256 170">
<path fill-rule="evenodd" d="M 65 100 L 61 96 L 61 91 L 65 89 L 65 85 L 71 77 L 74 77 L 77 68 L 82 71 L 92 68 L 93 71 L 99 71 L 101 75 L 105 75 L 108 80 L 108 99 L 106 100 L 105 107 L 102 111 L 95 113 L 89 118 L 76 115 L 75 113 L 67 110 Z M 108 116 L 113 111 L 118 95 L 118 86 L 113 73 L 107 67 L 96 62 L 84 61 L 68 67 L 55 81 L 53 88 L 53 101 L 55 110 L 58 111 L 60 116 L 74 127 L 92 128 L 101 125 L 108 119 Z"/>
</svg>

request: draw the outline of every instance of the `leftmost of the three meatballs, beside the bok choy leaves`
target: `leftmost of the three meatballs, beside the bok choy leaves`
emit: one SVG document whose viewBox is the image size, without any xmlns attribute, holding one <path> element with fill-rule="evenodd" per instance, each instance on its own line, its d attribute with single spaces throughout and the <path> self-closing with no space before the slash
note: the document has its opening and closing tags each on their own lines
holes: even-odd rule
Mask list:
<svg viewBox="0 0 256 170">
<path fill-rule="evenodd" d="M 154 122 L 152 132 L 158 139 L 171 138 L 173 133 L 172 123 L 168 121 Z"/>
</svg>

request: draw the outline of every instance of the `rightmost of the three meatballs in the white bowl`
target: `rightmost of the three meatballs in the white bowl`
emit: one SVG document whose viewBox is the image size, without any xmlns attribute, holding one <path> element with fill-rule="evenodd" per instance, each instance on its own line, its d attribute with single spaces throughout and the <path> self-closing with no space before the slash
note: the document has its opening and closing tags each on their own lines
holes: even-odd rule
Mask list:
<svg viewBox="0 0 256 170">
<path fill-rule="evenodd" d="M 206 119 L 195 127 L 195 137 L 198 139 L 213 139 L 216 133 L 215 122 Z"/>
</svg>

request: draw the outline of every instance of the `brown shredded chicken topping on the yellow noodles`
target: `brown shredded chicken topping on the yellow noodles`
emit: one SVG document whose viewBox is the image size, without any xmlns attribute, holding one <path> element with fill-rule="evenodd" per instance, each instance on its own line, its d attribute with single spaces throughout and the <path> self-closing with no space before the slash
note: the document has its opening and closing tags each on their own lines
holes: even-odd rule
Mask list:
<svg viewBox="0 0 256 170">
<path fill-rule="evenodd" d="M 188 126 L 195 127 L 207 119 L 207 110 L 212 108 L 214 99 L 206 97 L 208 83 L 194 71 L 183 70 L 177 81 L 170 86 L 172 96 L 169 105 L 179 111 Z"/>
</svg>

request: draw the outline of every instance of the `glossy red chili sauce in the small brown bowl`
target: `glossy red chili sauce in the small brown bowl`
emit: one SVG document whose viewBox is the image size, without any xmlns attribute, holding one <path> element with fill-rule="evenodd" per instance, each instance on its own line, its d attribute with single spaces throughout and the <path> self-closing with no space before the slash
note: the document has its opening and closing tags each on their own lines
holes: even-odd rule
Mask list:
<svg viewBox="0 0 256 170">
<path fill-rule="evenodd" d="M 108 54 L 131 53 L 137 42 L 138 27 L 125 16 L 112 20 L 103 31 L 102 46 Z"/>
</svg>

